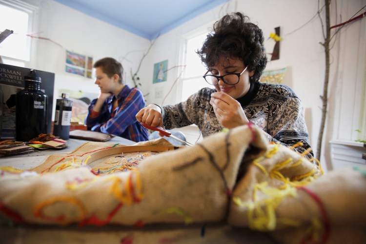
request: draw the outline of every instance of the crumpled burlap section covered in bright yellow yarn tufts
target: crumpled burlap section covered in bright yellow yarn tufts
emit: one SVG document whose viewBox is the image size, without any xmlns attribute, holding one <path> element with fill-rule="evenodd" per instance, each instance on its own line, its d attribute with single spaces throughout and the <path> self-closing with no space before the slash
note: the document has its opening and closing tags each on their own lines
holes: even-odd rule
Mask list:
<svg viewBox="0 0 366 244">
<path fill-rule="evenodd" d="M 268 145 L 262 157 L 244 165 L 247 168 L 234 189 L 228 222 L 262 231 L 279 227 L 274 210 L 284 198 L 295 196 L 296 185 L 320 175 L 313 163 L 280 144 Z"/>
</svg>

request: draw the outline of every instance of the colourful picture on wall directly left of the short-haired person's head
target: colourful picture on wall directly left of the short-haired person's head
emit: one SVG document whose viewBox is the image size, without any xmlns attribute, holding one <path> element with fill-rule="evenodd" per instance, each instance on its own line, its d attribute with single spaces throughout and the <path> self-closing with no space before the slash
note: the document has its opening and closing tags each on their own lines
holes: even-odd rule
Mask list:
<svg viewBox="0 0 366 244">
<path fill-rule="evenodd" d="M 66 50 L 67 73 L 92 78 L 93 58 Z"/>
</svg>

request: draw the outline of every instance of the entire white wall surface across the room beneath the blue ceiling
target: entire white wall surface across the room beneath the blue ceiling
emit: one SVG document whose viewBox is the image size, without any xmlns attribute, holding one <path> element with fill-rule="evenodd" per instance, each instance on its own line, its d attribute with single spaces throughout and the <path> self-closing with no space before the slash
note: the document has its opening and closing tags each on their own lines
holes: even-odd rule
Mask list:
<svg viewBox="0 0 366 244">
<path fill-rule="evenodd" d="M 62 45 L 61 48 L 50 41 L 35 40 L 37 49 L 31 61 L 32 68 L 56 73 L 55 91 L 59 88 L 72 88 L 98 92 L 93 80 L 64 72 L 65 49 L 92 56 L 94 61 L 107 56 L 122 61 L 127 74 L 127 83 L 132 84 L 130 69 L 137 69 L 142 54 L 146 52 L 150 41 L 52 0 L 26 1 L 39 6 L 39 23 L 35 31 L 42 32 L 39 34 L 40 36 L 50 38 Z M 343 21 L 345 21 L 365 6 L 365 3 L 366 0 L 338 0 L 338 12 L 342 13 Z M 320 1 L 320 4 L 323 5 L 323 1 Z M 335 23 L 334 4 L 335 2 L 332 1 L 332 23 Z M 285 84 L 294 89 L 303 101 L 304 107 L 307 108 L 306 116 L 309 118 L 307 125 L 311 131 L 311 145 L 316 149 L 321 120 L 320 107 L 322 105 L 319 96 L 323 93 L 325 76 L 325 54 L 322 45 L 319 44 L 319 42 L 324 41 L 321 22 L 318 16 L 313 18 L 318 11 L 318 0 L 230 0 L 161 35 L 142 62 L 139 72 L 143 94 L 150 92 L 145 99 L 148 103 L 163 102 L 162 99 L 155 99 L 155 89 L 163 89 L 163 97 L 166 96 L 164 104 L 179 102 L 181 84 L 179 80 L 175 84 L 174 82 L 181 68 L 168 71 L 167 81 L 153 84 L 154 63 L 168 60 L 169 68 L 181 65 L 180 44 L 182 36 L 194 29 L 202 28 L 203 25 L 212 26 L 212 23 L 219 20 L 225 13 L 233 11 L 242 11 L 253 22 L 258 23 L 263 29 L 265 37 L 269 37 L 270 32 L 274 32 L 275 27 L 281 27 L 283 41 L 280 42 L 280 60 L 269 61 L 267 68 L 287 67 Z M 322 18 L 323 20 L 325 18 L 324 12 L 322 12 Z M 337 21 L 337 23 L 340 22 L 339 16 Z M 365 60 L 362 58 L 365 57 L 365 41 L 362 41 L 365 40 L 365 20 L 360 20 L 359 23 L 361 25 L 352 24 L 352 27 L 346 27 L 345 31 L 340 32 L 341 42 L 336 43 L 332 49 L 329 120 L 331 123 L 339 121 L 340 118 L 343 118 L 341 116 L 343 113 L 347 117 L 342 122 L 337 122 L 336 128 L 334 126 L 326 128 L 326 142 L 324 142 L 325 147 L 323 148 L 323 151 L 326 150 L 326 152 L 321 158 L 323 162 L 330 161 L 329 148 L 326 148 L 328 141 L 338 139 L 338 137 L 346 140 L 353 139 L 353 136 L 347 137 L 346 135 L 352 134 L 351 129 L 356 125 L 351 125 L 351 129 L 344 133 L 341 131 L 354 121 L 357 113 L 357 109 L 352 111 L 348 109 L 352 104 L 357 104 L 357 101 L 350 103 L 347 101 L 355 100 L 357 96 L 360 97 L 357 94 L 355 96 L 355 91 L 362 90 L 363 87 L 360 72 L 363 73 L 365 67 Z M 348 40 L 346 47 L 345 39 Z M 272 52 L 273 45 L 273 40 L 265 41 L 268 53 Z M 350 47 L 355 48 L 354 52 L 348 55 L 345 48 Z M 363 48 L 363 53 L 357 56 L 359 48 Z M 354 55 L 357 58 L 354 58 Z M 270 56 L 268 58 L 270 59 Z M 347 71 L 349 67 L 355 69 Z M 353 74 L 358 74 L 358 77 L 354 77 Z M 338 93 L 343 89 L 347 89 L 348 92 L 343 95 L 341 101 L 337 102 Z M 169 90 L 171 92 L 168 94 Z M 344 102 L 346 105 L 342 105 L 345 104 Z M 349 119 L 349 116 L 353 120 Z M 329 165 L 329 163 L 323 164 Z"/>
</svg>

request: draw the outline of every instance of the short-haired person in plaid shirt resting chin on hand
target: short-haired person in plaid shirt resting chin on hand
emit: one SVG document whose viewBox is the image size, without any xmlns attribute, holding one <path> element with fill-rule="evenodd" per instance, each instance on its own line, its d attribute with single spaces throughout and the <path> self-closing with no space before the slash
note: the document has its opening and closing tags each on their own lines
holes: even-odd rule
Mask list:
<svg viewBox="0 0 366 244">
<path fill-rule="evenodd" d="M 145 101 L 140 90 L 123 83 L 122 64 L 113 58 L 104 58 L 96 61 L 94 68 L 95 84 L 99 86 L 100 94 L 89 105 L 85 118 L 88 130 L 134 142 L 147 141 L 147 129 L 136 120 L 136 114 L 145 107 Z"/>
</svg>

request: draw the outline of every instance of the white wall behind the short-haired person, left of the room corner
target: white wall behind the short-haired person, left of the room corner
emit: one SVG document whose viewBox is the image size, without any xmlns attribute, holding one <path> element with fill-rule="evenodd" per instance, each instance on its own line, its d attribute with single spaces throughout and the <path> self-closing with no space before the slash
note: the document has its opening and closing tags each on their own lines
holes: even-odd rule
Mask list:
<svg viewBox="0 0 366 244">
<path fill-rule="evenodd" d="M 52 41 L 34 39 L 29 68 L 55 73 L 55 99 L 58 89 L 98 93 L 94 79 L 66 73 L 66 49 L 97 61 L 113 57 L 122 62 L 125 79 L 133 85 L 135 71 L 149 41 L 116 26 L 97 20 L 53 0 L 24 0 L 38 7 L 34 32 Z M 55 102 L 54 102 L 55 104 Z M 55 108 L 54 108 L 55 109 Z"/>
</svg>

